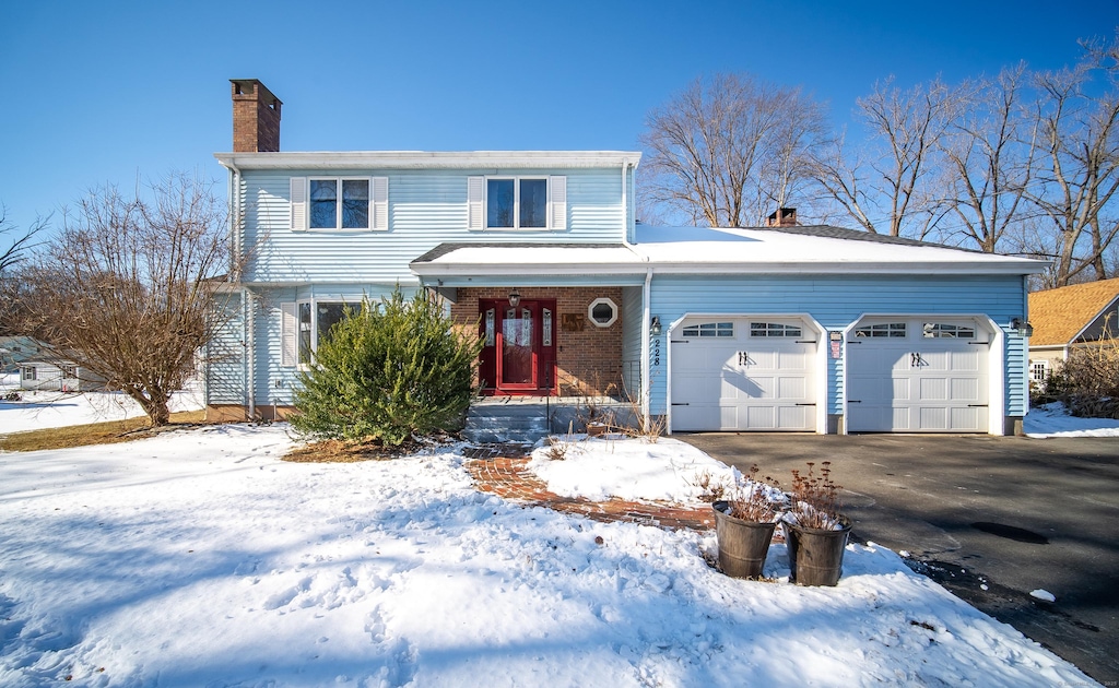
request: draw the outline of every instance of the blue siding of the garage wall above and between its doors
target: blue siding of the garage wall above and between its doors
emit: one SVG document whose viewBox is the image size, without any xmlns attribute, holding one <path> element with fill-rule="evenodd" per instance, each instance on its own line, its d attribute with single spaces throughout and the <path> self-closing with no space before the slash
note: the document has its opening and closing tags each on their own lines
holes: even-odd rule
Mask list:
<svg viewBox="0 0 1119 688">
<path fill-rule="evenodd" d="M 1006 415 L 1026 411 L 1025 340 L 1008 332 L 1025 313 L 1021 276 L 906 275 L 653 275 L 650 296 L 665 332 L 686 313 L 807 313 L 826 330 L 843 330 L 864 314 L 985 314 L 1007 333 Z M 667 360 L 650 373 L 651 413 L 666 411 Z M 998 371 L 991 370 L 991 375 Z M 828 358 L 827 413 L 843 409 L 843 364 Z"/>
</svg>

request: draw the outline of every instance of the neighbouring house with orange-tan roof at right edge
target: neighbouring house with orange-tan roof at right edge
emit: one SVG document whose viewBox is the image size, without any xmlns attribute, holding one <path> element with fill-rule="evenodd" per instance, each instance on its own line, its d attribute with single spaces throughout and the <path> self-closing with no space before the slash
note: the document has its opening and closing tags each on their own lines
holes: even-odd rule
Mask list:
<svg viewBox="0 0 1119 688">
<path fill-rule="evenodd" d="M 1029 381 L 1042 384 L 1076 348 L 1119 345 L 1119 277 L 1029 294 Z"/>
</svg>

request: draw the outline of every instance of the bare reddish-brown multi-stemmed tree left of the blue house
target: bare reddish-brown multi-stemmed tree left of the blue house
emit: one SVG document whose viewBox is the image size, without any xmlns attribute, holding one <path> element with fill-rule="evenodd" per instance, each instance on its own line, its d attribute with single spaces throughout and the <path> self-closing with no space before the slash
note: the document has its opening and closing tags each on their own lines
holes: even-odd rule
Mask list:
<svg viewBox="0 0 1119 688">
<path fill-rule="evenodd" d="M 220 321 L 227 213 L 211 185 L 171 176 L 150 198 L 97 189 L 27 268 L 25 324 L 59 356 L 137 400 L 153 425 Z"/>
</svg>

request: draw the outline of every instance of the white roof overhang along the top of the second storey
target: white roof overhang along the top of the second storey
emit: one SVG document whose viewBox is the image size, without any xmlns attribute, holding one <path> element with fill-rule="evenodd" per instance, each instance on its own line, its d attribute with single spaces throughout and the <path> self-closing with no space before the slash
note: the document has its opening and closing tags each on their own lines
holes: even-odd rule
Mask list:
<svg viewBox="0 0 1119 688">
<path fill-rule="evenodd" d="M 241 170 L 636 168 L 641 161 L 639 151 L 297 151 L 214 157 Z"/>
</svg>

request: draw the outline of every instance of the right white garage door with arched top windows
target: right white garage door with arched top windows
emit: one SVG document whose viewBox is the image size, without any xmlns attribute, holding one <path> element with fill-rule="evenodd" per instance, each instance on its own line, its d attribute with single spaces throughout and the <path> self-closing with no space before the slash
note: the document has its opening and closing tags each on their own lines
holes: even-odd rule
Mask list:
<svg viewBox="0 0 1119 688">
<path fill-rule="evenodd" d="M 861 321 L 847 334 L 847 430 L 987 432 L 989 350 L 974 320 Z"/>
</svg>

